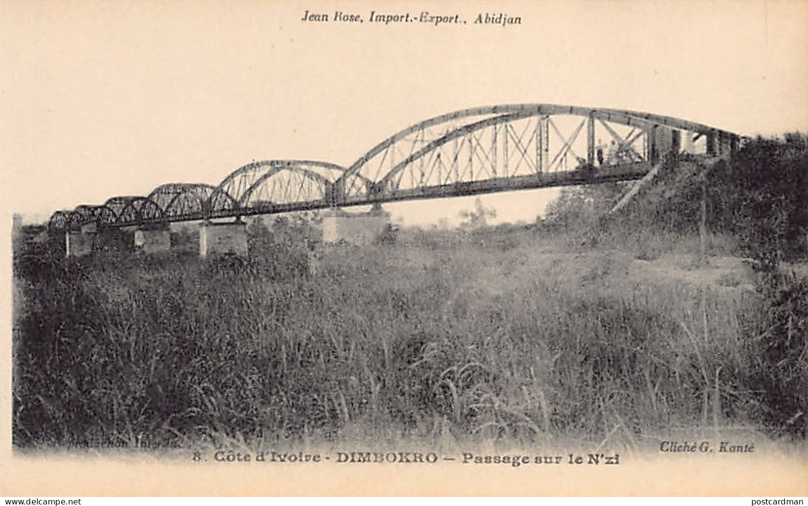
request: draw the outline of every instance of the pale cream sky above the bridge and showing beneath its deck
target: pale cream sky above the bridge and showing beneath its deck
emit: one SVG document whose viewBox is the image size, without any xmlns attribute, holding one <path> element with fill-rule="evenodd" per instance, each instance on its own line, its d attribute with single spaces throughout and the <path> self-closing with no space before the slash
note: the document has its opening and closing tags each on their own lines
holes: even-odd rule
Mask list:
<svg viewBox="0 0 808 506">
<path fill-rule="evenodd" d="M 466 24 L 311 23 L 303 13 Z M 480 13 L 520 25 L 473 23 Z M 258 159 L 343 166 L 410 124 L 500 103 L 808 131 L 808 2 L 24 2 L 0 11 L 2 213 L 217 184 Z M 483 197 L 532 221 L 555 190 Z M 457 221 L 473 198 L 386 205 Z"/>
</svg>

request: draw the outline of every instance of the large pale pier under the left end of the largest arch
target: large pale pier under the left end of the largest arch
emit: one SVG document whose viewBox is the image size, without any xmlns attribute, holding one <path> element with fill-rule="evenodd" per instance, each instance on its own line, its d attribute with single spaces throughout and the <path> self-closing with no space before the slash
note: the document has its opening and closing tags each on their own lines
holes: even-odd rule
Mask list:
<svg viewBox="0 0 808 506">
<path fill-rule="evenodd" d="M 369 213 L 329 209 L 322 214 L 322 242 L 344 241 L 364 246 L 376 241 L 389 223 L 389 213 L 379 204 L 374 204 Z"/>
</svg>

